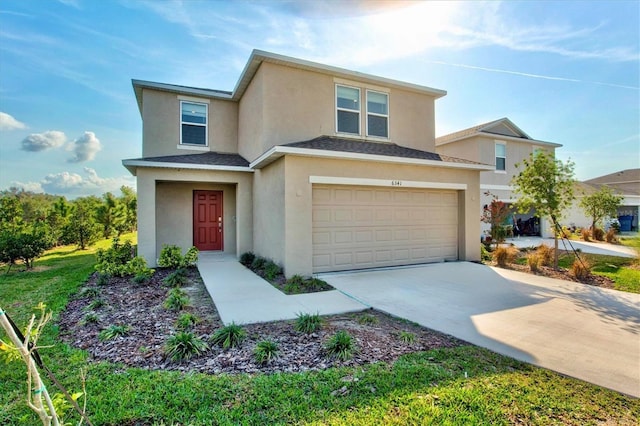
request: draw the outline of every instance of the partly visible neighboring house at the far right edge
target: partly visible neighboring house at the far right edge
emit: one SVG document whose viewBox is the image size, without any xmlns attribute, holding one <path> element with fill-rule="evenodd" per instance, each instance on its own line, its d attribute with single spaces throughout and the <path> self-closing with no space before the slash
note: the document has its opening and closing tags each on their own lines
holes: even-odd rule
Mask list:
<svg viewBox="0 0 640 426">
<path fill-rule="evenodd" d="M 576 191 L 576 202 L 570 209 L 565 222 L 578 228 L 590 227 L 591 218 L 586 217 L 580 207 L 580 199 L 584 195 L 597 191 L 602 185 L 610 187 L 613 192 L 624 197 L 617 214 L 621 230 L 637 231 L 640 215 L 640 169 L 621 170 L 580 182 Z"/>
</svg>

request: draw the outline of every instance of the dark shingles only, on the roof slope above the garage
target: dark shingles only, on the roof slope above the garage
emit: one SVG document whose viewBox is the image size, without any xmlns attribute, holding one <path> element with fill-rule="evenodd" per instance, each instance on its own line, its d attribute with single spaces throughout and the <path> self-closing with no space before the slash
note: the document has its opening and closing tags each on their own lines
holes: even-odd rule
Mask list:
<svg viewBox="0 0 640 426">
<path fill-rule="evenodd" d="M 335 136 L 320 136 L 302 142 L 284 144 L 292 148 L 318 149 L 325 151 L 352 152 L 357 154 L 384 155 L 388 157 L 415 158 L 449 163 L 482 164 L 461 158 L 449 157 L 435 152 L 421 151 L 387 142 L 368 142 Z"/>
</svg>

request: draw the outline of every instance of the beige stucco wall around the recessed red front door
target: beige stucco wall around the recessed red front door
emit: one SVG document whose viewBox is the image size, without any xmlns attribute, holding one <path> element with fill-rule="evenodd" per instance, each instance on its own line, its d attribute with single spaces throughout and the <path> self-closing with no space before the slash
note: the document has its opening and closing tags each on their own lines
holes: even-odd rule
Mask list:
<svg viewBox="0 0 640 426">
<path fill-rule="evenodd" d="M 224 251 L 253 250 L 253 173 L 138 168 L 138 253 L 155 265 L 164 244 L 193 245 L 193 190 L 222 190 Z"/>
</svg>

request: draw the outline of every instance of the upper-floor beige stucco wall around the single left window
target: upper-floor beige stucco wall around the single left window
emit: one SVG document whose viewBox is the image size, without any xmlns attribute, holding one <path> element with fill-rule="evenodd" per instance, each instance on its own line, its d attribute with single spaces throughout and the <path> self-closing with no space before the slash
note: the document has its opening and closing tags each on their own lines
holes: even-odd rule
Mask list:
<svg viewBox="0 0 640 426">
<path fill-rule="evenodd" d="M 143 89 L 142 92 L 142 156 L 197 154 L 180 145 L 180 98 L 175 93 Z M 208 142 L 210 151 L 238 152 L 238 104 L 232 101 L 189 97 L 193 101 L 208 100 Z"/>
</svg>

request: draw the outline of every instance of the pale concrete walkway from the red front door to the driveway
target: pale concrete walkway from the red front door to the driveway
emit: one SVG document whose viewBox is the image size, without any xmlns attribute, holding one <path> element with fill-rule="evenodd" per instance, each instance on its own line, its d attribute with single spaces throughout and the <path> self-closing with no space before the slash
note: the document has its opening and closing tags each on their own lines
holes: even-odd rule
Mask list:
<svg viewBox="0 0 640 426">
<path fill-rule="evenodd" d="M 366 309 L 337 290 L 287 296 L 232 255 L 201 252 L 198 270 L 225 324 L 294 319 L 299 313 L 331 315 Z"/>
</svg>

